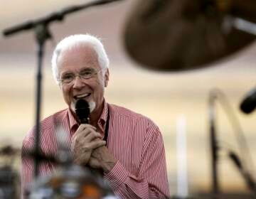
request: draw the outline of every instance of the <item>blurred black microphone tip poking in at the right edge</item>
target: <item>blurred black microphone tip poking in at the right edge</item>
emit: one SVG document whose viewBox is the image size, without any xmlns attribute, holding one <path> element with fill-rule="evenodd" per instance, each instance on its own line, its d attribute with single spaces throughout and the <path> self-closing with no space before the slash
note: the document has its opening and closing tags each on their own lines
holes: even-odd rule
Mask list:
<svg viewBox="0 0 256 199">
<path fill-rule="evenodd" d="M 250 114 L 256 107 L 256 88 L 252 89 L 242 100 L 240 109 L 246 114 Z"/>
</svg>

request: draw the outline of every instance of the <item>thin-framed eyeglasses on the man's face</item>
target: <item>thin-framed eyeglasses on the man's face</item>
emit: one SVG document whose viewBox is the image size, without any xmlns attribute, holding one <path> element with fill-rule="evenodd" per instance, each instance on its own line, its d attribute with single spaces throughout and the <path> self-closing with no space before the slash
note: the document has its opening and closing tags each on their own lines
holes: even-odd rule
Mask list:
<svg viewBox="0 0 256 199">
<path fill-rule="evenodd" d="M 100 70 L 95 70 L 94 68 L 86 68 L 84 70 L 81 70 L 78 73 L 78 75 L 75 75 L 72 72 L 65 73 L 62 77 L 60 77 L 59 81 L 62 84 L 70 84 L 71 82 L 73 82 L 75 80 L 76 76 L 80 77 L 81 80 L 88 80 L 88 79 L 94 77 L 95 75 L 97 75 L 97 73 L 100 72 L 101 70 L 102 70 L 102 68 Z"/>
</svg>

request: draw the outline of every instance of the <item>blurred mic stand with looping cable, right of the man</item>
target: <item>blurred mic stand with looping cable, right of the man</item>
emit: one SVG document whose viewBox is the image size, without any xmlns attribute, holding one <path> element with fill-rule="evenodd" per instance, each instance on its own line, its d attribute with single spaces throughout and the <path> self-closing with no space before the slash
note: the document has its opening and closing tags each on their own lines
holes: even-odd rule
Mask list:
<svg viewBox="0 0 256 199">
<path fill-rule="evenodd" d="M 216 130 L 216 102 L 219 100 L 220 104 L 223 106 L 225 113 L 228 116 L 230 123 L 232 124 L 233 131 L 237 138 L 238 146 L 240 148 L 240 154 L 242 154 L 242 159 L 240 160 L 239 156 L 234 151 L 228 151 L 228 157 L 235 163 L 235 166 L 238 167 L 238 170 L 242 174 L 242 178 L 245 179 L 247 187 L 256 194 L 256 183 L 255 179 L 249 171 L 254 169 L 254 164 L 250 156 L 250 150 L 247 146 L 247 141 L 243 135 L 242 128 L 240 127 L 240 122 L 235 117 L 233 109 L 230 107 L 228 99 L 225 97 L 224 93 L 218 89 L 210 90 L 210 95 L 208 99 L 208 116 L 209 116 L 209 134 L 210 134 L 210 152 L 211 152 L 211 163 L 212 163 L 212 192 L 213 198 L 218 198 L 220 194 L 219 178 L 218 178 L 218 161 L 219 161 L 219 152 L 222 150 L 217 139 L 217 130 Z M 249 169 L 248 167 L 250 166 Z"/>
</svg>

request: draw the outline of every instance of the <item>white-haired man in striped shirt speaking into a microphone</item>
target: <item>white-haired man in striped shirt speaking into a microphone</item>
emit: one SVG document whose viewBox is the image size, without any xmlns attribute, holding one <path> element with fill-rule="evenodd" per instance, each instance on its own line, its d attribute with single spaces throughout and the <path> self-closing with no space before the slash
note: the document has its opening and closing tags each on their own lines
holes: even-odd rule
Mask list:
<svg viewBox="0 0 256 199">
<path fill-rule="evenodd" d="M 90 35 L 64 38 L 56 46 L 53 76 L 63 92 L 68 109 L 41 122 L 43 154 L 58 153 L 57 126 L 68 132 L 74 163 L 104 171 L 104 178 L 119 198 L 167 198 L 164 144 L 154 122 L 104 98 L 110 70 L 109 60 L 99 39 Z M 75 103 L 90 104 L 90 124 L 79 124 Z M 31 149 L 35 129 L 23 140 L 23 151 Z M 105 137 L 105 140 L 103 138 Z M 54 171 L 50 162 L 41 163 L 40 175 Z M 33 181 L 33 161 L 22 158 L 22 188 Z"/>
</svg>

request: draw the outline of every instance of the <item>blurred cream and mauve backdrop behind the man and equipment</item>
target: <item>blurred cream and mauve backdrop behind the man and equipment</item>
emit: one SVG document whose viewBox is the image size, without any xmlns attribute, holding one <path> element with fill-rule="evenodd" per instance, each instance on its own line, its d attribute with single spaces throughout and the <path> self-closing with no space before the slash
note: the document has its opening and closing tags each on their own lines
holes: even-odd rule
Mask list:
<svg viewBox="0 0 256 199">
<path fill-rule="evenodd" d="M 0 31 L 60 11 L 66 6 L 85 2 L 6 1 L 1 6 Z M 171 195 L 178 194 L 176 139 L 179 129 L 183 129 L 181 131 L 186 135 L 186 166 L 183 173 L 188 179 L 188 195 L 207 193 L 211 188 L 208 98 L 213 88 L 218 88 L 228 98 L 244 131 L 252 161 L 256 163 L 256 113 L 246 115 L 239 109 L 245 94 L 255 87 L 256 44 L 251 43 L 207 68 L 181 72 L 146 70 L 132 60 L 124 48 L 124 26 L 132 11 L 132 4 L 134 1 L 129 0 L 97 6 L 71 14 L 63 22 L 51 24 L 53 40 L 47 42 L 46 57 L 43 60 L 41 119 L 66 107 L 50 69 L 50 57 L 55 43 L 76 33 L 99 36 L 110 57 L 110 84 L 105 97 L 107 102 L 144 114 L 158 124 L 164 137 Z M 21 32 L 9 38 L 1 36 L 0 146 L 9 143 L 21 148 L 23 137 L 35 124 L 36 63 L 33 31 Z M 224 148 L 239 151 L 233 126 L 218 99 L 215 110 L 218 140 Z M 17 169 L 18 164 L 19 157 Z M 221 154 L 218 167 L 221 191 L 248 192 L 238 169 L 225 153 Z M 253 170 L 252 165 L 248 167 Z M 252 175 L 255 176 L 255 173 Z"/>
</svg>

